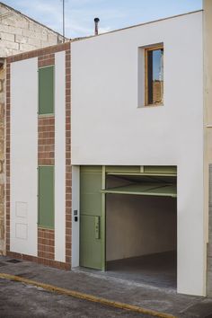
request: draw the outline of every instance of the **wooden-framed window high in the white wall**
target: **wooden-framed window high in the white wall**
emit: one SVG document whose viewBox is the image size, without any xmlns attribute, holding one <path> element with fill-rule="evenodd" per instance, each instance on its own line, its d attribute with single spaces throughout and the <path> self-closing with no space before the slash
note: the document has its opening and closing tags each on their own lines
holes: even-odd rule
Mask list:
<svg viewBox="0 0 212 318">
<path fill-rule="evenodd" d="M 145 49 L 145 105 L 163 105 L 163 46 Z"/>
</svg>

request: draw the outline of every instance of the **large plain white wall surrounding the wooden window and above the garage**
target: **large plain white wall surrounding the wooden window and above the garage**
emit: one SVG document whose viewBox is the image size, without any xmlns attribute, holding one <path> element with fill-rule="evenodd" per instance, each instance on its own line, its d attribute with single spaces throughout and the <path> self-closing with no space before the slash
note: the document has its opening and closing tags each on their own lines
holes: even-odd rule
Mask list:
<svg viewBox="0 0 212 318">
<path fill-rule="evenodd" d="M 164 106 L 138 108 L 138 48 L 161 42 Z M 205 295 L 201 12 L 72 43 L 72 164 L 177 165 L 178 292 Z"/>
</svg>

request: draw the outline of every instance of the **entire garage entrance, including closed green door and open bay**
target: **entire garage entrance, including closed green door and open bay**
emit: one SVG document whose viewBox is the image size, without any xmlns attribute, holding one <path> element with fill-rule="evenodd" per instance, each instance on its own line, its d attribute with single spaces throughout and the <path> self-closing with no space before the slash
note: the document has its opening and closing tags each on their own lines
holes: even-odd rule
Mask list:
<svg viewBox="0 0 212 318">
<path fill-rule="evenodd" d="M 176 251 L 175 166 L 80 167 L 81 268 L 176 288 Z"/>
</svg>

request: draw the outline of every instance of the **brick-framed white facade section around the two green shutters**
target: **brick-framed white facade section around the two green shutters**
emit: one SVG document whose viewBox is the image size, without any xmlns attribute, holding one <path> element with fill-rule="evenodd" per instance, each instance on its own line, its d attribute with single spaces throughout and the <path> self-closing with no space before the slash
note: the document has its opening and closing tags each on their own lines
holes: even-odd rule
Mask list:
<svg viewBox="0 0 212 318">
<path fill-rule="evenodd" d="M 54 69 L 54 107 L 51 113 L 38 115 L 38 70 L 48 66 Z M 70 142 L 70 43 L 8 57 L 7 255 L 60 269 L 70 268 Z M 47 226 L 38 217 L 38 202 L 43 195 L 39 190 L 40 167 L 49 167 L 54 173 L 54 216 L 53 223 Z"/>
</svg>

